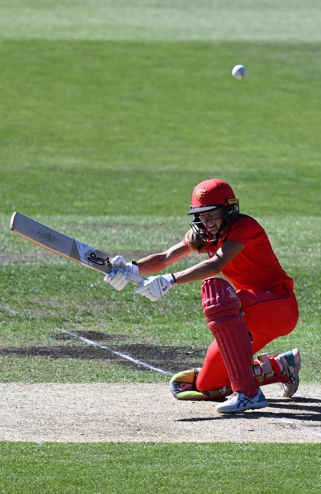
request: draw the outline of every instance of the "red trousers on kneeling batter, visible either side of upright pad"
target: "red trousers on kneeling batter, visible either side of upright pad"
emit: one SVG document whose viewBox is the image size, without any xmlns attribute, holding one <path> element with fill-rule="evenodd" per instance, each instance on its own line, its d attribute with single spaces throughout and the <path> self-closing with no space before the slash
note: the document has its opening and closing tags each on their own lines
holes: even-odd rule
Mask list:
<svg viewBox="0 0 321 494">
<path fill-rule="evenodd" d="M 244 320 L 253 336 L 253 355 L 278 336 L 290 333 L 299 317 L 298 305 L 292 290 L 278 289 L 278 293 L 263 290 L 239 290 Z M 199 372 L 196 386 L 199 391 L 230 386 L 229 376 L 216 341 L 209 346 Z"/>
</svg>

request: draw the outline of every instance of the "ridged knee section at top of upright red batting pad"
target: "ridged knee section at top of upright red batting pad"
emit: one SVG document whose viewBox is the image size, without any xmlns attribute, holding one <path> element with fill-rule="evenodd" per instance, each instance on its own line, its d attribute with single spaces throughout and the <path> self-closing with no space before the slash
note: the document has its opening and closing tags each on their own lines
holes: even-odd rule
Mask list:
<svg viewBox="0 0 321 494">
<path fill-rule="evenodd" d="M 230 324 L 242 320 L 240 300 L 232 285 L 214 276 L 201 284 L 202 308 L 208 328 L 225 330 Z"/>
</svg>

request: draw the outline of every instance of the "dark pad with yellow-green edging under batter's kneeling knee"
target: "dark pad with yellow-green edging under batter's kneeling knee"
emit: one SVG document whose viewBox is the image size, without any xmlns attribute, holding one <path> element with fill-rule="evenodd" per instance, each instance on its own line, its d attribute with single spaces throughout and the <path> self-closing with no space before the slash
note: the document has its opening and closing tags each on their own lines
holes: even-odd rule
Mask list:
<svg viewBox="0 0 321 494">
<path fill-rule="evenodd" d="M 220 400 L 232 392 L 232 389 L 227 388 L 227 386 L 209 391 L 199 391 L 196 387 L 199 371 L 201 368 L 188 369 L 173 375 L 169 382 L 169 389 L 177 400 Z"/>
</svg>

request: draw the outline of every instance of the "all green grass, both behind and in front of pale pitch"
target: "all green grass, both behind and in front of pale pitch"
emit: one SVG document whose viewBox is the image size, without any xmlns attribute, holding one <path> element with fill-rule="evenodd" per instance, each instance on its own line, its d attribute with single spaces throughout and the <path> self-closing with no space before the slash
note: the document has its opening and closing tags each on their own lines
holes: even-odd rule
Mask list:
<svg viewBox="0 0 321 494">
<path fill-rule="evenodd" d="M 0 355 L 0 380 L 167 380 L 108 361 L 23 355 L 83 345 L 58 341 L 62 327 L 106 332 L 116 344 L 205 349 L 199 283 L 151 304 L 132 285 L 115 292 L 98 273 L 43 255 L 8 225 L 18 210 L 135 257 L 179 242 L 194 186 L 220 177 L 295 281 L 298 326 L 267 350 L 297 346 L 302 381 L 320 384 L 319 4 L 134 3 L 1 2 L 0 295 L 24 316 L 0 310 L 0 349 L 20 349 Z M 244 81 L 231 76 L 239 63 Z M 22 485 L 106 492 L 107 484 L 128 493 L 279 493 L 286 479 L 287 493 L 317 493 L 318 452 L 309 444 L 2 443 L 0 482 L 9 493 Z"/>
</svg>

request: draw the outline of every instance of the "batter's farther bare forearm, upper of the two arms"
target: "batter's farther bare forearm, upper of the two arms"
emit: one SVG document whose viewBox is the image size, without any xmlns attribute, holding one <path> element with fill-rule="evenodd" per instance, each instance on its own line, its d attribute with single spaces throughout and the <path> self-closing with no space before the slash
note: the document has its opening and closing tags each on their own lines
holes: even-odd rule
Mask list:
<svg viewBox="0 0 321 494">
<path fill-rule="evenodd" d="M 173 264 L 173 262 L 185 257 L 190 252 L 190 247 L 185 245 L 183 242 L 180 242 L 179 244 L 168 248 L 164 252 L 143 257 L 137 262 L 139 274 L 147 275 L 161 271 L 167 266 L 170 266 L 170 264 Z"/>
</svg>

